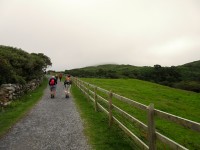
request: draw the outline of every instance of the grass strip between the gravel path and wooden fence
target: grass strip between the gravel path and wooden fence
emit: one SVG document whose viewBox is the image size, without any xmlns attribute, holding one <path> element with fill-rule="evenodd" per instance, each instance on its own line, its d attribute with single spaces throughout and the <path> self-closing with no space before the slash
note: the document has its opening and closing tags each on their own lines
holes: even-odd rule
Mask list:
<svg viewBox="0 0 200 150">
<path fill-rule="evenodd" d="M 89 143 L 95 150 L 137 150 L 135 144 L 115 124 L 108 125 L 108 116 L 102 112 L 95 112 L 94 107 L 83 93 L 72 86 L 72 94 L 76 106 L 84 121 L 84 132 Z"/>
</svg>

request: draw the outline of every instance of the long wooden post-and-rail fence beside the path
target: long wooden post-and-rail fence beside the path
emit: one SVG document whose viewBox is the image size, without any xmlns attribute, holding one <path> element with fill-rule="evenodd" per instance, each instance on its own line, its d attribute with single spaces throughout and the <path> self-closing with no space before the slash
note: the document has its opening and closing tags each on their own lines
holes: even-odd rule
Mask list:
<svg viewBox="0 0 200 150">
<path fill-rule="evenodd" d="M 182 125 L 184 127 L 187 127 L 188 129 L 200 132 L 200 123 L 172 115 L 170 113 L 166 113 L 157 109 L 154 109 L 154 105 L 150 104 L 149 106 L 146 106 L 144 104 L 141 104 L 139 102 L 136 102 L 134 100 L 131 100 L 129 98 L 120 96 L 116 93 L 112 93 L 111 91 L 107 91 L 105 89 L 102 89 L 100 87 L 97 87 L 95 85 L 89 84 L 87 82 L 84 82 L 78 78 L 73 78 L 73 82 L 75 85 L 80 88 L 80 90 L 88 96 L 88 98 L 94 102 L 95 111 L 100 109 L 104 113 L 106 113 L 109 117 L 109 125 L 112 125 L 113 121 L 119 125 L 119 127 L 131 137 L 142 149 L 149 149 L 149 150 L 155 150 L 156 149 L 156 140 L 160 140 L 161 142 L 168 145 L 171 149 L 176 150 L 187 150 L 186 147 L 176 143 L 175 141 L 169 139 L 168 137 L 162 135 L 161 133 L 157 132 L 155 129 L 155 116 L 158 116 L 160 118 L 164 118 L 166 120 L 170 120 L 172 122 L 175 122 L 176 124 Z M 93 89 L 93 90 L 91 90 Z M 108 96 L 108 99 L 103 98 L 103 96 L 100 96 L 97 94 L 97 92 L 100 91 Z M 139 108 L 147 113 L 148 116 L 148 123 L 147 125 L 141 122 L 140 120 L 136 119 L 135 117 L 131 116 L 124 110 L 120 109 L 116 105 L 112 104 L 112 99 L 116 98 L 120 101 L 126 102 L 130 104 L 131 106 L 134 106 L 136 108 Z M 105 107 L 103 107 L 99 101 L 105 103 L 108 106 L 108 110 L 106 110 Z M 147 133 L 147 140 L 148 144 L 143 142 L 140 138 L 138 138 L 133 132 L 131 132 L 122 122 L 120 122 L 114 115 L 113 110 L 116 110 L 119 114 L 121 114 L 124 118 L 128 119 L 129 121 L 136 124 L 139 128 L 142 128 Z"/>
</svg>

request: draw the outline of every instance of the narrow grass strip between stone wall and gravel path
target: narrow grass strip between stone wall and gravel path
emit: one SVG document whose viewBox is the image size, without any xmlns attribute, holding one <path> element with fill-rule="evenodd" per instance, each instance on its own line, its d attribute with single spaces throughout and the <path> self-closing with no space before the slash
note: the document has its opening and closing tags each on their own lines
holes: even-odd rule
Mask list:
<svg viewBox="0 0 200 150">
<path fill-rule="evenodd" d="M 36 90 L 28 92 L 0 111 L 0 137 L 5 135 L 40 100 L 46 86 L 47 79 L 45 78 Z"/>
</svg>

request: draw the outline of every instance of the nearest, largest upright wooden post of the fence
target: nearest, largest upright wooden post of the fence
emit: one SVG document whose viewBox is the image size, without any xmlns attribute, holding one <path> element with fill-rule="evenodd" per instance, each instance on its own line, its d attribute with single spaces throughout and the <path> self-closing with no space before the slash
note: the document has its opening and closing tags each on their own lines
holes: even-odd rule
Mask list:
<svg viewBox="0 0 200 150">
<path fill-rule="evenodd" d="M 156 134 L 155 134 L 155 121 L 154 121 L 154 104 L 148 106 L 148 139 L 149 150 L 156 149 Z"/>
</svg>

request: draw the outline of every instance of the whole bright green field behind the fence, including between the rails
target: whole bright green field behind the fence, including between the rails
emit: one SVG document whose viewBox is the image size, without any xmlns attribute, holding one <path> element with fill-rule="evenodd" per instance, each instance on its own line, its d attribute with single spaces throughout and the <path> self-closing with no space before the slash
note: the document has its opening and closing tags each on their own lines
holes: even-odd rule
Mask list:
<svg viewBox="0 0 200 150">
<path fill-rule="evenodd" d="M 112 90 L 114 93 L 142 104 L 149 105 L 153 103 L 156 109 L 200 122 L 199 93 L 178 90 L 134 79 L 85 78 L 83 80 L 106 90 Z M 113 100 L 113 103 L 145 124 L 147 123 L 147 115 L 145 112 L 117 100 Z M 123 121 L 123 119 L 122 122 L 145 141 L 145 135 L 142 135 L 139 129 Z M 189 149 L 200 149 L 200 133 L 160 118 L 156 118 L 156 130 Z M 162 143 L 158 142 L 157 144 L 159 149 L 169 149 Z"/>
</svg>

